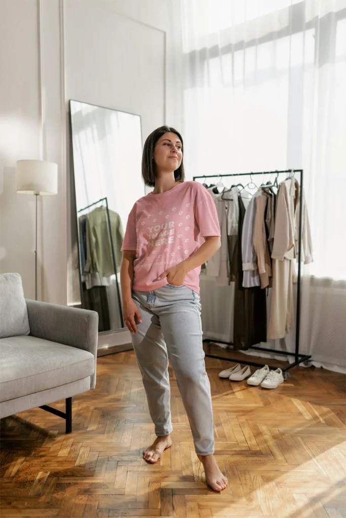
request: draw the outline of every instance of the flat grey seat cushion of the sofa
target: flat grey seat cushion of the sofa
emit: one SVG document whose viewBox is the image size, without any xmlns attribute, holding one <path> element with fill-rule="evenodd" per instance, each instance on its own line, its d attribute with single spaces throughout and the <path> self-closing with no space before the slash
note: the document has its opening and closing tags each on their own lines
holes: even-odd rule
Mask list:
<svg viewBox="0 0 346 518">
<path fill-rule="evenodd" d="M 34 336 L 0 339 L 0 402 L 91 376 L 89 351 Z"/>
</svg>

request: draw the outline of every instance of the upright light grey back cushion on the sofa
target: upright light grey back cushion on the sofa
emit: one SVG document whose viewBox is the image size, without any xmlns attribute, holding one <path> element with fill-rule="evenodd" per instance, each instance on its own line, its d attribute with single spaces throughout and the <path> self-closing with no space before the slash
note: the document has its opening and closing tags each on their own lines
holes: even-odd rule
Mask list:
<svg viewBox="0 0 346 518">
<path fill-rule="evenodd" d="M 19 274 L 0 275 L 0 338 L 29 335 L 29 319 Z"/>
</svg>

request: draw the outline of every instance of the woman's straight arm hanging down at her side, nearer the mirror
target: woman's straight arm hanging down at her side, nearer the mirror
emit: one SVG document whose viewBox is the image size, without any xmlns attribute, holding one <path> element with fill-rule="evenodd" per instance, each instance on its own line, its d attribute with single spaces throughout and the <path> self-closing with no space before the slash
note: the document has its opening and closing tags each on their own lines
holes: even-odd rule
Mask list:
<svg viewBox="0 0 346 518">
<path fill-rule="evenodd" d="M 133 262 L 135 258 L 135 250 L 123 250 L 120 267 L 122 314 L 131 333 L 137 333 L 137 326 L 134 320 L 135 315 L 137 316 L 139 323 L 142 322 L 140 310 L 132 300 L 131 295 L 133 283 Z"/>
</svg>

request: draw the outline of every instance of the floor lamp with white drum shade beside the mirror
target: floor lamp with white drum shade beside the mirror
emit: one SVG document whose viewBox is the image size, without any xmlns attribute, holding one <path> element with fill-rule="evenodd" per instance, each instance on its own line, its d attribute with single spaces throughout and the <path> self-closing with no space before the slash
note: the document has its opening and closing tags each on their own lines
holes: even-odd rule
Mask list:
<svg viewBox="0 0 346 518">
<path fill-rule="evenodd" d="M 42 160 L 19 160 L 17 193 L 36 196 L 35 300 L 37 300 L 37 197 L 58 194 L 58 164 Z"/>
</svg>

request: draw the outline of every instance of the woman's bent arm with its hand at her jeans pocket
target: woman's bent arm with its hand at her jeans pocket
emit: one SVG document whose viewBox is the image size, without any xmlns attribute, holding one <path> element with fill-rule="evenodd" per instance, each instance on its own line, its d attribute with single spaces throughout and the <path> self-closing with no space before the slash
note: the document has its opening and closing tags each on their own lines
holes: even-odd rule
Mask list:
<svg viewBox="0 0 346 518">
<path fill-rule="evenodd" d="M 177 286 L 184 284 L 187 272 L 205 263 L 221 246 L 221 238 L 219 236 L 206 236 L 204 239 L 205 242 L 196 252 L 190 255 L 190 257 L 187 257 L 185 261 L 165 270 L 163 274 L 159 276 L 159 279 L 167 277 L 170 284 Z"/>
</svg>

